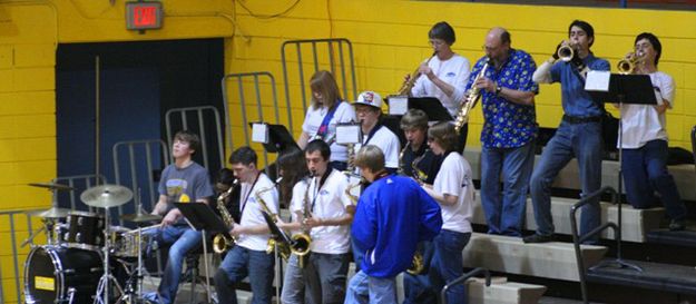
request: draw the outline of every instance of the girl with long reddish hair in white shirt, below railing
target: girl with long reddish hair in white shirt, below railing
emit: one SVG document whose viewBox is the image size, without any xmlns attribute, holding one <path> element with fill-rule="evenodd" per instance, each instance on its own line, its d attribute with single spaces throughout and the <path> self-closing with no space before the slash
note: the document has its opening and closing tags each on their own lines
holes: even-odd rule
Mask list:
<svg viewBox="0 0 696 304">
<path fill-rule="evenodd" d="M 339 170 L 347 166 L 347 148 L 335 143 L 336 125 L 355 121 L 355 110 L 341 98 L 336 80 L 330 71 L 315 72 L 310 80 L 312 105 L 302 124 L 297 145 L 304 149 L 313 139 L 322 139 L 331 147 L 331 165 Z"/>
</svg>

